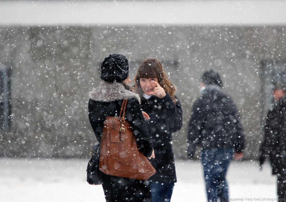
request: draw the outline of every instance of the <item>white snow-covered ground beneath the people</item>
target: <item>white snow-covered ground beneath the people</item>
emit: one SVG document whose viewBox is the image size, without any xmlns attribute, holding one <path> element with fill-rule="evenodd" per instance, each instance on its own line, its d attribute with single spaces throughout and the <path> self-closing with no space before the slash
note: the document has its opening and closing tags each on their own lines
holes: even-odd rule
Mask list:
<svg viewBox="0 0 286 202">
<path fill-rule="evenodd" d="M 0 158 L 1 202 L 104 202 L 101 185 L 86 182 L 89 159 Z M 206 201 L 200 161 L 176 161 L 178 182 L 172 202 Z M 266 163 L 233 161 L 230 201 L 276 201 L 276 176 Z"/>
</svg>

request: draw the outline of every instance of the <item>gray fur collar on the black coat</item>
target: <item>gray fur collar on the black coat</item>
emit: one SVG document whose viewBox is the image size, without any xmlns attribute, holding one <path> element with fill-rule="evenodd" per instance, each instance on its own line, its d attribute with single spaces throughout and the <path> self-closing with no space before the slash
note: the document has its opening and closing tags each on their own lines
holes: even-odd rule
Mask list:
<svg viewBox="0 0 286 202">
<path fill-rule="evenodd" d="M 89 97 L 94 101 L 101 102 L 113 102 L 130 97 L 136 98 L 139 102 L 141 101 L 139 95 L 126 90 L 122 83 L 112 83 L 106 81 L 101 81 L 97 88 L 90 91 Z"/>
</svg>

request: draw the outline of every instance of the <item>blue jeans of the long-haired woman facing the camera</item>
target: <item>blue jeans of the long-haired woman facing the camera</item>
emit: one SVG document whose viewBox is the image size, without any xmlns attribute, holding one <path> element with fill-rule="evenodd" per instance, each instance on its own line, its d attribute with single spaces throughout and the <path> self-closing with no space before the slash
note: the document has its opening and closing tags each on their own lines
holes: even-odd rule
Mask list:
<svg viewBox="0 0 286 202">
<path fill-rule="evenodd" d="M 170 202 L 174 182 L 150 182 L 152 202 Z"/>
</svg>

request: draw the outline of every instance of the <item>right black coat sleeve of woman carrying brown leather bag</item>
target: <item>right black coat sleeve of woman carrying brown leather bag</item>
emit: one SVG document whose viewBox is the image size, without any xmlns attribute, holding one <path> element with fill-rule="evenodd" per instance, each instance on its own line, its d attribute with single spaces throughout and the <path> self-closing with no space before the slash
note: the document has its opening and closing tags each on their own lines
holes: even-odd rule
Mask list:
<svg viewBox="0 0 286 202">
<path fill-rule="evenodd" d="M 150 157 L 153 151 L 152 142 L 140 109 L 140 104 L 135 98 L 128 99 L 125 117 L 133 129 L 139 151 L 146 157 Z"/>
</svg>

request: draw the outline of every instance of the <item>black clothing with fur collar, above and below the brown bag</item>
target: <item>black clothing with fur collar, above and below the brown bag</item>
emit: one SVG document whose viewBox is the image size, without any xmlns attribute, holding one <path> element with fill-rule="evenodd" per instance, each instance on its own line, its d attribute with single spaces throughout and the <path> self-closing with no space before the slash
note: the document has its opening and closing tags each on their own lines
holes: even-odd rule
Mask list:
<svg viewBox="0 0 286 202">
<path fill-rule="evenodd" d="M 102 81 L 96 89 L 90 92 L 89 96 L 88 117 L 99 142 L 101 142 L 105 118 L 107 116 L 118 116 L 122 101 L 128 98 L 125 117 L 136 136 L 138 149 L 146 157 L 152 155 L 152 143 L 140 109 L 139 95 L 126 90 L 121 83 Z M 101 178 L 104 195 L 108 202 L 151 201 L 150 188 L 146 186 L 145 181 L 116 177 L 104 173 L 102 173 Z"/>
</svg>

